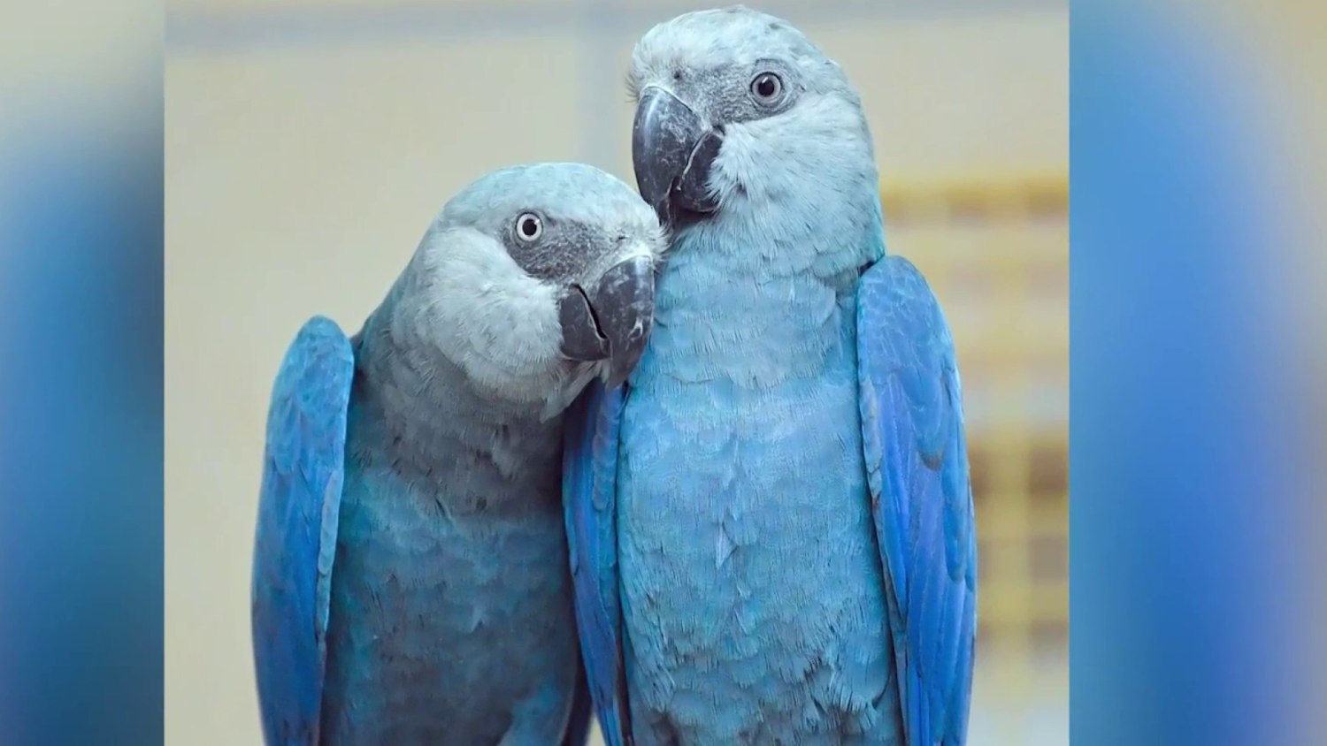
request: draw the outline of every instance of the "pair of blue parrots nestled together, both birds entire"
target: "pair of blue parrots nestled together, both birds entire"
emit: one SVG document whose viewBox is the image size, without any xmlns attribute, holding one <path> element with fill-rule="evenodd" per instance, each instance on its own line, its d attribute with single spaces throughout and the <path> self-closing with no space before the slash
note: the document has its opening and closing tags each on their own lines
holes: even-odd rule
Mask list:
<svg viewBox="0 0 1327 746">
<path fill-rule="evenodd" d="M 857 93 L 742 7 L 652 29 L 629 86 L 640 193 L 483 176 L 358 334 L 291 345 L 267 743 L 965 742 L 959 376 Z"/>
</svg>

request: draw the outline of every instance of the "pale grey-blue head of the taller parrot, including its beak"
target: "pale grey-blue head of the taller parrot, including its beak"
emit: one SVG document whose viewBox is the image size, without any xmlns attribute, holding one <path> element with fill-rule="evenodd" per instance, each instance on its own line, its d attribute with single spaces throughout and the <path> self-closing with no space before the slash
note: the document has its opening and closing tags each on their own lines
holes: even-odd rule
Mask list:
<svg viewBox="0 0 1327 746">
<path fill-rule="evenodd" d="M 636 45 L 628 87 L 636 182 L 674 229 L 877 200 L 860 97 L 787 21 L 744 7 L 678 16 Z"/>
</svg>

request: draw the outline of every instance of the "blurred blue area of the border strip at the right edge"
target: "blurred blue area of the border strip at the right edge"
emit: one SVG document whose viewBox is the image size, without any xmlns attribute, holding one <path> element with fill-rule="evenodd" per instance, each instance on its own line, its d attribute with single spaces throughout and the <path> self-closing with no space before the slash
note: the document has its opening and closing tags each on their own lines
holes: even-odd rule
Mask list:
<svg viewBox="0 0 1327 746">
<path fill-rule="evenodd" d="M 1279 207 L 1253 25 L 1196 15 L 1229 8 L 1071 12 L 1075 746 L 1323 742 L 1322 423 L 1294 374 L 1327 337 L 1289 290 L 1322 244 Z"/>
</svg>

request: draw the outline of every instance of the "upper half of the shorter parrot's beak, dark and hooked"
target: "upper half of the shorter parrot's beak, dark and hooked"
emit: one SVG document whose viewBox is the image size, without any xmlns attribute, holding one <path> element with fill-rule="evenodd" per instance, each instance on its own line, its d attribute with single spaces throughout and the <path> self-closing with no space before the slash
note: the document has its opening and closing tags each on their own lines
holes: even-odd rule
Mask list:
<svg viewBox="0 0 1327 746">
<path fill-rule="evenodd" d="M 636 256 L 604 273 L 593 309 L 608 341 L 608 388 L 636 370 L 654 326 L 654 262 Z"/>
</svg>

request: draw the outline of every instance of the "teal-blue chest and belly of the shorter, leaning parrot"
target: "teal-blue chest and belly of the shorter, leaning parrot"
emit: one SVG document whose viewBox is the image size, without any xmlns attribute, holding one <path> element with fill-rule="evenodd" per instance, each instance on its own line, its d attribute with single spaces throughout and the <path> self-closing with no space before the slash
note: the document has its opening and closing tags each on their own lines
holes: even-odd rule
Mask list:
<svg viewBox="0 0 1327 746">
<path fill-rule="evenodd" d="M 413 462 L 372 420 L 352 404 L 322 742 L 556 742 L 577 655 L 556 473 Z"/>
</svg>

